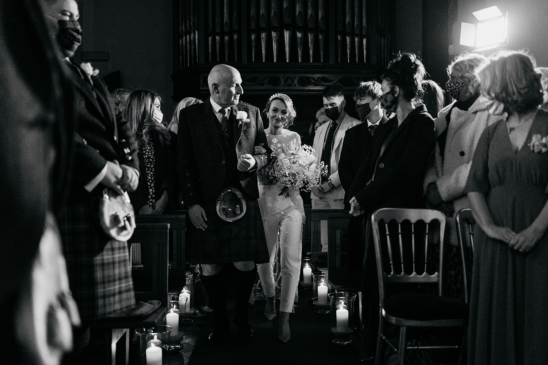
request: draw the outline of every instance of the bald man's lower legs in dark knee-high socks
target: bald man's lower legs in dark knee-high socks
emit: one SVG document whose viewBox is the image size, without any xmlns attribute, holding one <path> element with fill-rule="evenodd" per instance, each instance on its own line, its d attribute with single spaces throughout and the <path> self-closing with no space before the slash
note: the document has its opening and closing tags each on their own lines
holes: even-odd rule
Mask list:
<svg viewBox="0 0 548 365">
<path fill-rule="evenodd" d="M 231 287 L 234 289 L 236 301 L 235 323 L 249 323 L 249 296 L 253 290 L 256 269 L 241 271 L 232 266 L 225 267 L 215 275 L 202 275 L 202 283 L 207 290 L 209 306 L 213 308 L 213 321 L 215 330 L 228 331 L 230 329 L 229 316 L 226 310 L 226 288 L 228 287 L 227 272 L 232 271 Z M 229 269 L 229 270 L 227 270 Z"/>
</svg>

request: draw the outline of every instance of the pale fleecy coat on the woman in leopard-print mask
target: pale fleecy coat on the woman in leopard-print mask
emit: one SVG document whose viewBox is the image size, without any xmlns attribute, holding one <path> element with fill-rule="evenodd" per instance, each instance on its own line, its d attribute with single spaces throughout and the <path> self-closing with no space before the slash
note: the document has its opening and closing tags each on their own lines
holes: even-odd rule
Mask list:
<svg viewBox="0 0 548 365">
<path fill-rule="evenodd" d="M 451 110 L 454 102 L 441 111 L 434 119 L 436 123 L 436 136 L 439 136 L 447 126 L 447 113 Z M 447 142 L 444 158 L 439 152 L 439 144 L 436 140 L 434 158 L 431 159 L 424 179 L 424 192 L 431 183 L 436 183 L 444 202 L 453 202 L 455 215 L 460 209 L 470 208 L 470 201 L 465 194 L 464 188 L 474 150 L 479 136 L 488 126 L 504 119 L 504 115 L 490 115 L 486 107 L 479 101 L 479 98 L 470 106 L 468 111 L 453 108 L 449 128 L 447 129 Z M 448 219 L 452 230 L 449 235 L 450 243 L 457 244 L 456 227 L 454 219 Z"/>
</svg>

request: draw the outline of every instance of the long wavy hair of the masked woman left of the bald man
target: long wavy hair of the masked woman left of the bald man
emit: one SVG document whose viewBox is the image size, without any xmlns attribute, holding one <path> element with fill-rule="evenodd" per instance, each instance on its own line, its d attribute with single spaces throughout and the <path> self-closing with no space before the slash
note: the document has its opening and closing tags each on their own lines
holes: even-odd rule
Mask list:
<svg viewBox="0 0 548 365">
<path fill-rule="evenodd" d="M 162 101 L 160 95 L 150 90 L 136 89 L 129 94 L 125 107 L 125 120 L 131 126 L 137 146 L 141 151 L 149 142 L 152 134 L 158 138 L 162 145 L 169 144 L 170 135 L 167 128 L 152 118 L 152 107 L 156 98 L 160 102 Z"/>
</svg>

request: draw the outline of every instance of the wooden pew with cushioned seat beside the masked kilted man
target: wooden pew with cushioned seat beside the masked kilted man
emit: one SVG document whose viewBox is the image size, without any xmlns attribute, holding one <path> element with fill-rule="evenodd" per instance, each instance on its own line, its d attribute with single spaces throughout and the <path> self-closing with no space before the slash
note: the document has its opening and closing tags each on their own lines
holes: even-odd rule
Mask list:
<svg viewBox="0 0 548 365">
<path fill-rule="evenodd" d="M 128 364 L 130 330 L 139 327 L 153 327 L 165 315 L 168 301 L 168 243 L 169 224 L 141 224 L 136 225 L 132 238 L 128 241 L 140 243 L 142 269 L 132 270 L 134 286 L 146 290 L 135 290 L 136 301 L 159 300 L 161 306 L 149 317 L 134 320 L 133 318 L 99 318 L 93 321 L 90 327 L 102 330 L 107 358 L 105 363 Z M 135 253 L 133 253 L 135 254 Z M 123 345 L 121 347 L 119 345 Z"/>
</svg>

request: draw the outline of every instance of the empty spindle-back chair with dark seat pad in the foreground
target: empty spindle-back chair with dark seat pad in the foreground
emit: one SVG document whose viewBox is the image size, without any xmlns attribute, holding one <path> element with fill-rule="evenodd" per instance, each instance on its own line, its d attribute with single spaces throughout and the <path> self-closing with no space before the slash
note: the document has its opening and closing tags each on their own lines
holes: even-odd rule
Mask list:
<svg viewBox="0 0 548 365">
<path fill-rule="evenodd" d="M 376 210 L 372 216 L 373 238 L 375 243 L 377 272 L 379 277 L 380 313 L 379 335 L 377 339 L 375 365 L 381 360 L 383 340 L 398 353 L 398 363 L 403 365 L 406 349 L 457 349 L 452 346 L 408 346 L 408 327 L 466 327 L 468 306 L 458 300 L 444 298 L 442 294 L 443 233 L 446 219 L 443 213 L 431 209 L 384 208 Z M 396 221 L 396 233 L 389 230 Z M 404 221 L 410 223 L 410 237 L 404 237 Z M 417 224 L 423 221 L 426 225 Z M 434 229 L 439 223 L 439 236 Z M 381 230 L 383 226 L 381 239 Z M 406 227 L 403 231 L 407 231 Z M 423 235 L 416 233 L 424 230 Z M 392 242 L 396 235 L 397 241 Z M 438 238 L 438 239 L 436 239 Z M 423 243 L 424 241 L 424 243 Z M 436 253 L 439 246 L 439 254 Z M 410 272 L 410 273 L 409 273 Z M 406 293 L 386 297 L 385 284 L 420 283 L 437 284 L 438 294 Z M 396 348 L 384 335 L 384 320 L 399 326 L 399 346 Z"/>
</svg>

